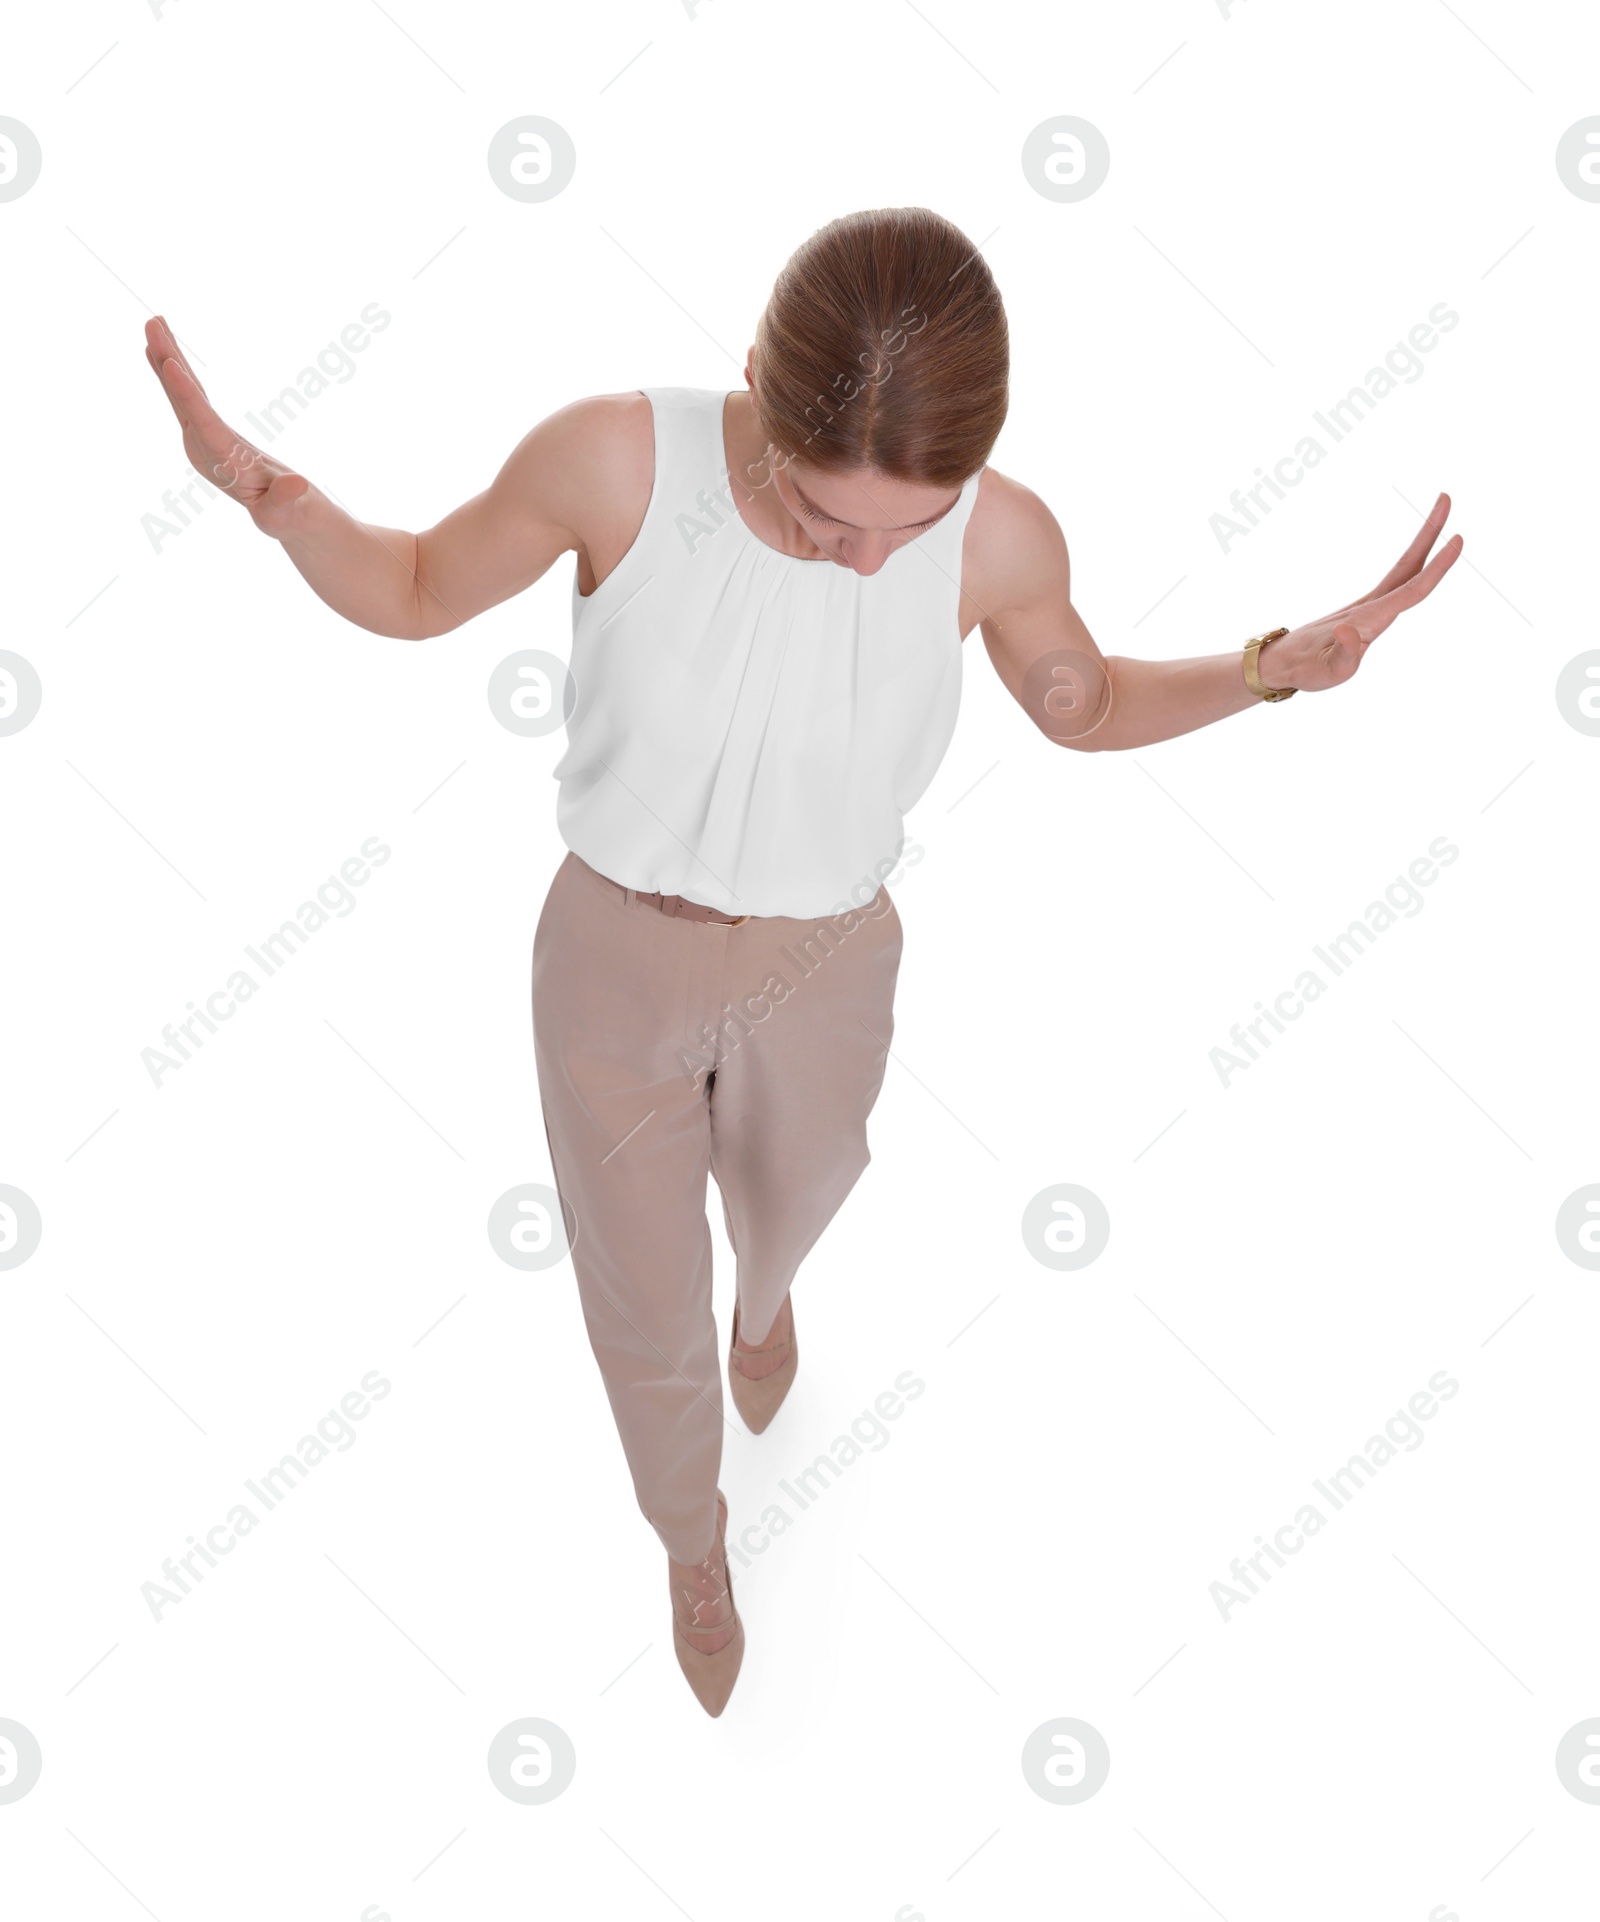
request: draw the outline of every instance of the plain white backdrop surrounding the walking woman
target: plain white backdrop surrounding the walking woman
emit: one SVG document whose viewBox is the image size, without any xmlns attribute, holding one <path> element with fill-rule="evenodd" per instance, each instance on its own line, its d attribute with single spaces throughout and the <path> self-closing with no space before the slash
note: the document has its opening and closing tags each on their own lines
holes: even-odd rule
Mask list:
<svg viewBox="0 0 1600 1922">
<path fill-rule="evenodd" d="M 1554 154 L 1598 56 L 1577 8 L 1494 0 L 10 19 L 0 113 L 44 171 L 0 206 L 0 646 L 44 702 L 0 740 L 0 1180 L 42 1242 L 0 1274 L 0 1716 L 44 1768 L 0 1805 L 8 1909 L 1577 1912 L 1600 1807 L 1554 1753 L 1600 1714 L 1600 1276 L 1554 1219 L 1600 1180 L 1600 740 L 1554 688 L 1596 646 L 1600 204 Z M 525 113 L 577 146 L 533 206 L 487 167 Z M 1079 204 L 1021 169 L 1060 113 L 1112 150 Z M 565 653 L 571 565 L 406 646 L 227 500 L 158 552 L 187 475 L 140 331 L 163 311 L 242 425 L 379 302 L 275 452 L 417 529 L 567 400 L 742 384 L 790 248 L 898 204 L 985 246 L 994 465 L 1058 513 L 1108 653 L 1331 611 L 1440 488 L 1467 544 L 1354 684 L 1137 753 L 1050 748 L 969 640 L 875 1163 L 796 1290 L 788 1405 L 729 1428 L 735 1528 L 896 1374 L 927 1390 L 737 1566 L 712 1722 L 571 1270 L 485 1232 L 548 1178 L 527 992 L 562 855 L 562 736 L 485 690 Z M 1423 377 L 1223 552 L 1210 515 L 1437 302 Z M 162 1026 L 373 834 L 356 911 L 152 1086 Z M 1437 836 L 1423 911 L 1223 1086 L 1229 1028 Z M 1019 1230 L 1056 1182 L 1112 1219 L 1071 1274 Z M 152 1620 L 162 1561 L 371 1368 L 358 1443 Z M 1225 1622 L 1229 1563 L 1440 1368 L 1425 1443 Z M 577 1749 L 540 1807 L 487 1770 L 521 1716 Z M 1112 1755 L 1075 1807 L 1021 1768 L 1058 1716 Z"/>
</svg>

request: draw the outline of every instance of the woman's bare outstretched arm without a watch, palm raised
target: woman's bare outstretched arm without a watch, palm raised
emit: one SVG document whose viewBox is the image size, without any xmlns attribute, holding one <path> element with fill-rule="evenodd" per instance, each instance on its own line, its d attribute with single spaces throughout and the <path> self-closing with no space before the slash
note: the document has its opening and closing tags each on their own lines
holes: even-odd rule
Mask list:
<svg viewBox="0 0 1600 1922">
<path fill-rule="evenodd" d="M 540 421 L 483 494 L 421 534 L 358 521 L 217 415 L 163 319 L 146 323 L 144 342 L 194 471 L 283 546 L 335 613 L 373 634 L 427 640 L 510 600 L 585 544 L 604 498 L 613 456 L 602 429 L 617 396 Z"/>
</svg>

